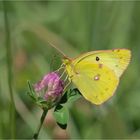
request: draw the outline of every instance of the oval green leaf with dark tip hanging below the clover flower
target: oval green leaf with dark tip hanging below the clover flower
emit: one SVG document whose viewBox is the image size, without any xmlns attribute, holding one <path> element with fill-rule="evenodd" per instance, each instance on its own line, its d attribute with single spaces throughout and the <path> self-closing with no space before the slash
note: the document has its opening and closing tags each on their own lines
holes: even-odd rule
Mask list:
<svg viewBox="0 0 140 140">
<path fill-rule="evenodd" d="M 60 104 L 57 105 L 55 110 L 54 110 L 54 117 L 55 117 L 58 125 L 60 127 L 62 126 L 61 128 L 66 129 L 67 122 L 68 122 L 68 119 L 69 119 L 68 109 L 66 107 L 60 105 Z"/>
</svg>

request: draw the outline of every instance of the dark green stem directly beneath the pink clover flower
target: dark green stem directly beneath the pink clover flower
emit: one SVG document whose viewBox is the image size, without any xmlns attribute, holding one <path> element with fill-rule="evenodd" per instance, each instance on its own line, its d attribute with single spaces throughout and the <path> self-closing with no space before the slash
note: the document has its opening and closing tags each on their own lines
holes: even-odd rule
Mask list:
<svg viewBox="0 0 140 140">
<path fill-rule="evenodd" d="M 44 122 L 44 120 L 45 120 L 45 117 L 46 117 L 46 115 L 47 115 L 47 112 L 48 112 L 47 109 L 44 109 L 44 110 L 43 110 L 42 116 L 41 116 L 41 118 L 40 118 L 39 127 L 38 127 L 38 129 L 37 129 L 37 132 L 36 132 L 36 133 L 34 134 L 34 136 L 33 136 L 33 139 L 35 139 L 35 140 L 38 139 L 39 132 L 40 132 L 40 129 L 41 129 L 41 127 L 42 127 L 42 124 L 43 124 L 43 122 Z"/>
</svg>

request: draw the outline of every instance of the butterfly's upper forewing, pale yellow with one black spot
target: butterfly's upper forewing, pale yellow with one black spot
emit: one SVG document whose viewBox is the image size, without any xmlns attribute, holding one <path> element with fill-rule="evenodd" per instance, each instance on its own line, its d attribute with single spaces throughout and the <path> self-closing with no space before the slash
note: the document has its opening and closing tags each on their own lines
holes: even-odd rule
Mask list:
<svg viewBox="0 0 140 140">
<path fill-rule="evenodd" d="M 100 67 L 105 65 L 120 77 L 127 68 L 130 59 L 131 51 L 128 49 L 93 51 L 74 59 L 73 65 L 76 66 L 86 62 L 99 64 Z"/>
</svg>

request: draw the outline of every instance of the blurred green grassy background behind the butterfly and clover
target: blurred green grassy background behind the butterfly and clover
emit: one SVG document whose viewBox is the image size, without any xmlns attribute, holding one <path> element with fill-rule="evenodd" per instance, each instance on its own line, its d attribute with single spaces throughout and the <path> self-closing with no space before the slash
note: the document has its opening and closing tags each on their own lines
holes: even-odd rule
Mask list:
<svg viewBox="0 0 140 140">
<path fill-rule="evenodd" d="M 59 68 L 61 57 L 47 41 L 69 57 L 90 50 L 129 48 L 132 61 L 116 94 L 95 106 L 80 98 L 69 105 L 67 130 L 50 111 L 40 138 L 140 138 L 140 2 L 22 1 L 8 2 L 16 138 L 31 138 L 41 109 L 27 96 L 33 83 Z M 6 65 L 3 4 L 0 2 L 0 138 L 10 138 L 10 96 Z"/>
</svg>

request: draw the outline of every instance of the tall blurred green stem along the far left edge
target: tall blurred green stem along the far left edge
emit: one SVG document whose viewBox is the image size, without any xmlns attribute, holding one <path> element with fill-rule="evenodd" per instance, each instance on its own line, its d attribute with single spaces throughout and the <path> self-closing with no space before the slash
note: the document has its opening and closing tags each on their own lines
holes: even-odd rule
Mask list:
<svg viewBox="0 0 140 140">
<path fill-rule="evenodd" d="M 4 24 L 5 24 L 5 46 L 6 46 L 6 58 L 7 58 L 7 73 L 8 73 L 8 87 L 10 93 L 10 133 L 11 138 L 15 138 L 15 102 L 13 97 L 12 89 L 12 51 L 11 51 L 11 39 L 10 39 L 10 27 L 8 20 L 8 3 L 3 0 L 3 9 L 4 9 Z"/>
</svg>

